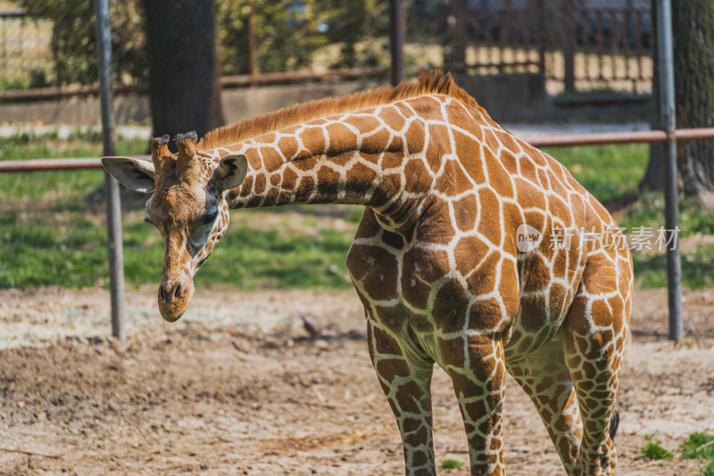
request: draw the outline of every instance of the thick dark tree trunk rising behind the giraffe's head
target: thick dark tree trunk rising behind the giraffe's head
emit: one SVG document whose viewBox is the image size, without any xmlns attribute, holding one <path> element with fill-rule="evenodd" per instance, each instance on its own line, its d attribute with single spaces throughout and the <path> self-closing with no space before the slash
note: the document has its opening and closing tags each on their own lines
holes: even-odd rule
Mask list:
<svg viewBox="0 0 714 476">
<path fill-rule="evenodd" d="M 154 137 L 223 124 L 213 2 L 142 0 Z"/>
</svg>

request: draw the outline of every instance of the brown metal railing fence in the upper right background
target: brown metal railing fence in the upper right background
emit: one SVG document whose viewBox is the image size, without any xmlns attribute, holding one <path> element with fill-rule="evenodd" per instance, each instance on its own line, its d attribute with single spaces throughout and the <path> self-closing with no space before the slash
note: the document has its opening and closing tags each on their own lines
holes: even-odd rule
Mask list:
<svg viewBox="0 0 714 476">
<path fill-rule="evenodd" d="M 652 15 L 647 4 L 457 0 L 451 18 L 451 70 L 479 75 L 542 72 L 552 95 L 573 90 L 652 92 Z"/>
</svg>

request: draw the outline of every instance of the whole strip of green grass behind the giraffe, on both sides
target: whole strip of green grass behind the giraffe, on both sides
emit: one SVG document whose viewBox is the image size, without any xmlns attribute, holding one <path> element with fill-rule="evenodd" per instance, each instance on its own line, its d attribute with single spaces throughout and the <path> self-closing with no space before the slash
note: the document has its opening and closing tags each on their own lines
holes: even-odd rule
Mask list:
<svg viewBox="0 0 714 476">
<path fill-rule="evenodd" d="M 101 149 L 98 133 L 79 130 L 68 140 L 56 134 L 0 138 L 0 160 L 99 156 Z M 635 200 L 648 150 L 644 145 L 619 145 L 552 148 L 548 152 L 599 200 L 616 205 L 621 226 L 656 230 L 663 221 L 661 194 L 644 194 Z M 145 152 L 145 140 L 118 144 L 118 154 Z M 0 288 L 106 284 L 103 182 L 100 171 L 0 174 Z M 144 196 L 133 200 L 123 220 L 125 277 L 135 286 L 155 284 L 162 271 L 162 241 L 158 232 L 143 222 L 144 200 Z M 303 206 L 299 211 L 302 226 L 313 230 L 310 234 L 253 225 L 279 211 L 232 212 L 230 230 L 196 275 L 196 285 L 349 288 L 345 255 L 355 227 L 337 231 L 329 221 L 320 221 L 320 216 L 337 213 L 348 223 L 356 223 L 361 220 L 361 208 Z M 684 237 L 714 234 L 714 211 L 694 200 L 682 201 L 681 221 Z M 638 286 L 666 286 L 663 254 L 635 253 L 634 260 Z M 685 287 L 714 286 L 714 246 L 700 244 L 685 250 L 682 269 Z"/>
</svg>

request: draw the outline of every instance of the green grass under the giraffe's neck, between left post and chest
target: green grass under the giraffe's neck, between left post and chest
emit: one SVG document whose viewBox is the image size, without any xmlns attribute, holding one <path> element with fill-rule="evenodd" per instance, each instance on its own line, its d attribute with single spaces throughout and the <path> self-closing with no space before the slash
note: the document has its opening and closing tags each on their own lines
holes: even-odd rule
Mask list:
<svg viewBox="0 0 714 476">
<path fill-rule="evenodd" d="M 251 213 L 261 220 L 262 211 Z M 270 213 L 270 212 L 268 212 Z M 124 261 L 127 281 L 140 285 L 161 280 L 163 246 L 142 211 L 125 216 Z M 316 236 L 232 226 L 211 258 L 196 273 L 195 285 L 238 288 L 347 288 L 345 255 L 352 233 L 319 229 Z"/>
</svg>

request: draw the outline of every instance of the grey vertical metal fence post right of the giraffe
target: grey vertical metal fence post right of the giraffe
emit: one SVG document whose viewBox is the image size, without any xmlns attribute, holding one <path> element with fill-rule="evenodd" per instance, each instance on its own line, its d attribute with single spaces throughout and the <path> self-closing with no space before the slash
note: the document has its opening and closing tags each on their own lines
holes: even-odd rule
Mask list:
<svg viewBox="0 0 714 476">
<path fill-rule="evenodd" d="M 664 146 L 665 227 L 667 228 L 667 297 L 669 338 L 682 340 L 682 263 L 679 257 L 679 198 L 677 193 L 677 128 L 675 72 L 672 52 L 672 9 L 669 0 L 657 0 L 658 60 L 660 63 L 660 121 L 667 133 Z M 671 243 L 671 245 L 670 245 Z"/>
</svg>

